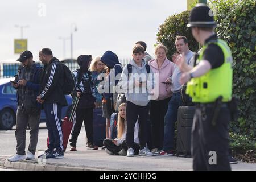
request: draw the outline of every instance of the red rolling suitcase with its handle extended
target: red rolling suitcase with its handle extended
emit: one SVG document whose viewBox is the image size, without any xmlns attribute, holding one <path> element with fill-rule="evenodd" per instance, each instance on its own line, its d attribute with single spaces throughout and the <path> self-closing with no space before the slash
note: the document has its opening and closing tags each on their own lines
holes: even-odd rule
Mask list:
<svg viewBox="0 0 256 182">
<path fill-rule="evenodd" d="M 63 134 L 63 151 L 64 152 L 66 151 L 66 148 L 67 148 L 67 145 L 68 145 L 68 138 L 69 138 L 69 135 L 70 135 L 71 130 L 73 128 L 73 119 L 74 119 L 75 114 L 76 114 L 76 107 L 77 107 L 77 104 L 79 102 L 79 98 L 80 97 L 76 97 L 75 104 L 74 104 L 73 109 L 71 111 L 70 117 L 68 118 L 66 116 L 64 119 L 62 119 L 61 130 L 62 130 L 62 134 Z M 48 146 L 49 146 L 49 136 L 47 138 L 47 147 Z"/>
</svg>

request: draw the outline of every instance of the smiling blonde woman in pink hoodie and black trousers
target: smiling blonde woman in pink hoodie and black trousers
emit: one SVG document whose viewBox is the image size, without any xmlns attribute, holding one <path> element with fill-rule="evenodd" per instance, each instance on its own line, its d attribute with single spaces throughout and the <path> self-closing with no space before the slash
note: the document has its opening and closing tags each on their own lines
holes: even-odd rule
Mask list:
<svg viewBox="0 0 256 182">
<path fill-rule="evenodd" d="M 166 57 L 167 48 L 161 44 L 156 46 L 156 59 L 148 62 L 153 73 L 158 73 L 159 95 L 156 100 L 150 100 L 150 121 L 152 131 L 152 152 L 159 151 L 163 147 L 164 115 L 168 108 L 168 102 L 172 96 L 171 85 L 164 83 L 174 72 L 174 63 Z"/>
</svg>

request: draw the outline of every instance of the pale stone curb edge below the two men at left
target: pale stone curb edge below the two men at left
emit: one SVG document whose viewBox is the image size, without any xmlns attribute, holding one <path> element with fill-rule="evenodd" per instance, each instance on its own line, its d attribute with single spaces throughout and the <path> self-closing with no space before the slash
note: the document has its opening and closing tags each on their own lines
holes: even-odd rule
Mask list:
<svg viewBox="0 0 256 182">
<path fill-rule="evenodd" d="M 35 164 L 35 163 L 28 163 L 28 162 L 10 162 L 7 159 L 5 159 L 5 163 L 3 164 L 3 166 L 6 168 L 22 169 L 26 171 L 98 171 L 98 170 L 102 171 L 102 169 L 94 169 L 94 168 L 57 166 L 52 164 Z"/>
</svg>

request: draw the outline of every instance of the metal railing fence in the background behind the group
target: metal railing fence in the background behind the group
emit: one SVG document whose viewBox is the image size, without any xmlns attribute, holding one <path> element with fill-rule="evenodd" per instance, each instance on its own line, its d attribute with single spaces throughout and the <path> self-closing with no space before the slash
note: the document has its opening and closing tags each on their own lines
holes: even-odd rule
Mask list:
<svg viewBox="0 0 256 182">
<path fill-rule="evenodd" d="M 130 59 L 121 59 L 120 63 L 125 66 L 128 64 Z M 41 62 L 36 62 L 43 67 Z M 64 63 L 67 67 L 74 71 L 75 69 L 79 68 L 79 65 L 76 62 L 73 63 Z M 0 63 L 0 78 L 10 78 L 14 77 L 18 73 L 18 68 L 21 66 L 19 63 Z"/>
</svg>

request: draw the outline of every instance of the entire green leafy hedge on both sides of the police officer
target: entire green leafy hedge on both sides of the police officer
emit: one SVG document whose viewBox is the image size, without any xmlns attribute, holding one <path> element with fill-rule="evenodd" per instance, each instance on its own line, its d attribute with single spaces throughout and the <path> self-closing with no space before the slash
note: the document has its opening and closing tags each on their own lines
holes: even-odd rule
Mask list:
<svg viewBox="0 0 256 182">
<path fill-rule="evenodd" d="M 238 122 L 230 123 L 234 133 L 256 138 L 256 7 L 255 0 L 219 0 L 209 6 L 215 10 L 219 38 L 228 42 L 233 55 L 233 94 L 240 99 Z M 168 48 L 168 58 L 176 52 L 175 37 L 184 35 L 189 39 L 189 47 L 198 47 L 188 29 L 189 11 L 169 16 L 160 25 L 158 43 Z"/>
</svg>

